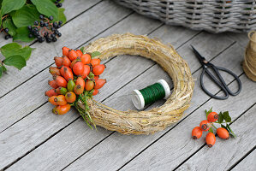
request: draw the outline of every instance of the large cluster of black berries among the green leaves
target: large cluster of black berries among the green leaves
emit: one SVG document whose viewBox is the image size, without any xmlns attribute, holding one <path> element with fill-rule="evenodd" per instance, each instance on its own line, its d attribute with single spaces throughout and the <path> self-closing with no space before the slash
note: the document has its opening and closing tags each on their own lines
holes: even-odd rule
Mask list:
<svg viewBox="0 0 256 171">
<path fill-rule="evenodd" d="M 62 33 L 57 29 L 63 24 L 63 21 L 53 21 L 53 16 L 45 17 L 44 15 L 39 15 L 40 21 L 34 21 L 33 26 L 28 26 L 30 34 L 29 38 L 37 38 L 39 43 L 43 43 L 45 40 L 47 43 L 56 42 L 57 38 L 62 36 Z"/>
</svg>

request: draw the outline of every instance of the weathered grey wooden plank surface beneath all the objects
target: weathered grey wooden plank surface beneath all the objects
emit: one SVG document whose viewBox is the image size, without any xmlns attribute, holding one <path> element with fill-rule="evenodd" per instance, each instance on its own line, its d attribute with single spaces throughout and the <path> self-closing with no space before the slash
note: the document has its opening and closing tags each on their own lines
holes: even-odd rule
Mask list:
<svg viewBox="0 0 256 171">
<path fill-rule="evenodd" d="M 63 37 L 55 44 L 32 44 L 37 50 L 33 51 L 27 67 L 21 72 L 11 69 L 0 81 L 0 169 L 200 170 L 218 165 L 215 170 L 224 170 L 239 162 L 235 166 L 239 170 L 239 167 L 245 168 L 249 163 L 247 160 L 252 161 L 253 152 L 243 159 L 255 147 L 255 137 L 249 134 L 255 129 L 253 112 L 256 100 L 252 98 L 256 95 L 255 83 L 242 74 L 239 65 L 247 45 L 246 34 L 210 34 L 165 26 L 159 21 L 134 14 L 112 1 L 67 0 L 63 5 L 68 16 L 68 23 L 61 28 Z M 123 32 L 148 34 L 151 38 L 172 44 L 188 62 L 193 78 L 199 79 L 200 65 L 190 48 L 190 44 L 193 44 L 207 60 L 241 75 L 241 94 L 217 101 L 205 95 L 199 88 L 199 81 L 195 80 L 192 105 L 186 111 L 187 115 L 163 132 L 149 136 L 124 136 L 100 127 L 97 132 L 92 131 L 74 109 L 68 115 L 52 115 L 52 106 L 46 103 L 47 98 L 43 94 L 49 89 L 47 80 L 51 76 L 47 68 L 53 63 L 53 56 L 61 55 L 63 45 L 79 48 L 97 38 Z M 0 42 L 0 46 L 6 43 Z M 96 99 L 116 109 L 134 109 L 129 97 L 123 96 L 134 88 L 143 88 L 161 78 L 172 85 L 170 77 L 155 62 L 145 58 L 118 56 L 105 62 L 107 70 L 103 77 L 108 80 L 108 84 L 104 85 Z M 224 78 L 229 83 L 233 80 L 225 74 Z M 207 79 L 205 86 L 215 93 L 219 90 Z M 235 89 L 236 83 L 230 86 Z M 163 103 L 164 100 L 148 108 Z M 203 139 L 191 139 L 192 128 L 205 118 L 204 110 L 211 106 L 216 110 L 228 109 L 233 119 L 240 117 L 232 124 L 239 139 L 220 140 L 211 149 L 204 146 Z M 245 127 L 247 124 L 250 127 Z M 237 131 L 241 127 L 244 128 Z M 229 152 L 229 145 L 236 145 L 235 150 L 225 160 L 223 156 Z M 222 148 L 222 153 L 218 154 Z M 211 155 L 216 161 L 212 165 L 208 157 Z M 203 161 L 204 156 L 206 162 Z M 217 161 L 220 159 L 225 164 L 219 165 Z"/>
</svg>

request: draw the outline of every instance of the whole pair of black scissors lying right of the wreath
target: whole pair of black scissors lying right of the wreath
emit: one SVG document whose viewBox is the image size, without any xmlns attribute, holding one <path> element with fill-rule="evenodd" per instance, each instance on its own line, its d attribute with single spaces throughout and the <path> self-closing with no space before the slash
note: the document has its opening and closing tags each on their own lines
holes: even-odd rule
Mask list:
<svg viewBox="0 0 256 171">
<path fill-rule="evenodd" d="M 203 89 L 203 91 L 205 91 L 206 94 L 208 94 L 210 97 L 217 98 L 217 99 L 220 99 L 220 100 L 224 100 L 224 99 L 227 99 L 229 97 L 229 95 L 236 96 L 240 93 L 240 91 L 241 91 L 241 80 L 238 78 L 237 75 L 235 75 L 229 69 L 217 67 L 217 66 L 213 65 L 211 62 L 207 62 L 205 60 L 205 57 L 201 56 L 199 54 L 199 52 L 197 50 L 195 50 L 192 45 L 191 45 L 191 47 L 193 49 L 193 52 L 194 52 L 195 56 L 197 56 L 197 58 L 199 59 L 199 62 L 201 63 L 201 65 L 203 67 L 203 72 L 200 75 L 200 85 L 201 85 L 201 88 Z M 217 75 L 217 78 L 215 76 L 213 76 L 213 74 L 211 74 L 211 72 L 209 71 L 209 68 L 211 68 L 213 70 L 213 72 Z M 223 72 L 226 72 L 226 73 L 232 75 L 235 78 L 235 80 L 238 83 L 238 91 L 236 91 L 236 92 L 230 91 L 228 85 L 223 80 L 222 75 L 219 73 L 219 70 L 223 71 Z M 212 94 L 211 92 L 209 92 L 205 89 L 205 85 L 203 84 L 203 78 L 204 78 L 205 73 L 224 92 L 225 95 L 223 97 L 216 96 L 216 95 Z"/>
</svg>

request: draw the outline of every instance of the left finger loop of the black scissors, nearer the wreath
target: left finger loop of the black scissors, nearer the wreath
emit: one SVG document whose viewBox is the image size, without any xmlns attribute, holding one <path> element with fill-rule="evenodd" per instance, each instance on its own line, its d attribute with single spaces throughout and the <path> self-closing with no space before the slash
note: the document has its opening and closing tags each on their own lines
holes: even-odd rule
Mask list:
<svg viewBox="0 0 256 171">
<path fill-rule="evenodd" d="M 210 91 L 207 91 L 207 89 L 205 88 L 205 85 L 203 83 L 203 78 L 204 78 L 205 73 L 208 74 L 210 79 L 213 82 L 215 82 L 215 84 L 224 92 L 225 96 L 218 97 L 218 96 L 212 94 Z M 224 100 L 224 99 L 227 99 L 229 97 L 229 92 L 225 89 L 225 87 L 223 87 L 223 85 L 220 84 L 220 82 L 205 67 L 203 67 L 203 72 L 200 75 L 200 85 L 201 85 L 201 88 L 203 89 L 203 91 L 205 91 L 205 93 L 208 94 L 210 97 L 217 98 L 217 99 L 220 99 L 220 100 Z"/>
</svg>

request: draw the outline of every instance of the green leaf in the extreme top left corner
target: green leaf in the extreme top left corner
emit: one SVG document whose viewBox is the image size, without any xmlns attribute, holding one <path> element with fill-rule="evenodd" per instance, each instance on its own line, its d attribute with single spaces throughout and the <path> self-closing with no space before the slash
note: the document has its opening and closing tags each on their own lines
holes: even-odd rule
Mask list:
<svg viewBox="0 0 256 171">
<path fill-rule="evenodd" d="M 25 3 L 26 0 L 3 0 L 1 14 L 8 14 L 13 10 L 21 9 Z"/>
</svg>

